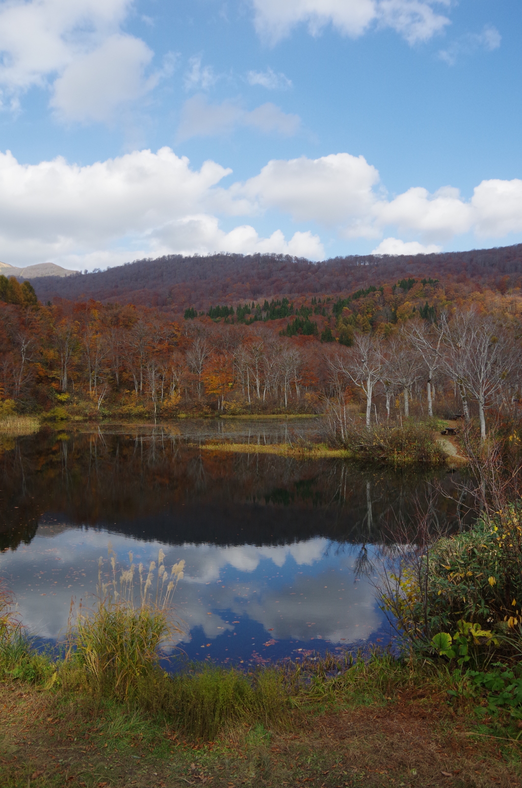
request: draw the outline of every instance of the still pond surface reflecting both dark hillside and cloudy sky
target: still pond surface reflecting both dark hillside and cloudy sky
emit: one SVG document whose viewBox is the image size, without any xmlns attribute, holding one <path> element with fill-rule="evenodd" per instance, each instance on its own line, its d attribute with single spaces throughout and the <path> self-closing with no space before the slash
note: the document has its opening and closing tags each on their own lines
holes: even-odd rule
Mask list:
<svg viewBox="0 0 522 788">
<path fill-rule="evenodd" d="M 319 419 L 213 420 L 0 439 L 0 577 L 24 623 L 55 641 L 71 599 L 95 593 L 110 544 L 121 568 L 129 552 L 148 566 L 160 548 L 166 566 L 185 560 L 174 601 L 190 658 L 263 663 L 385 642 L 375 545 L 397 514 L 415 518 L 435 482 L 454 496 L 435 505 L 453 527 L 454 478 L 255 453 L 321 429 Z M 216 439 L 253 453 L 201 448 Z"/>
</svg>

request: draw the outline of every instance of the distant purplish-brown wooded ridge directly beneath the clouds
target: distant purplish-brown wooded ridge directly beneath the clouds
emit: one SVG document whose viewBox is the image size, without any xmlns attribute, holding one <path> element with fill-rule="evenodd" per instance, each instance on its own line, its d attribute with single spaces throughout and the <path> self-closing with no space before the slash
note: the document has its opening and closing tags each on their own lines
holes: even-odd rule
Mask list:
<svg viewBox="0 0 522 788">
<path fill-rule="evenodd" d="M 188 307 L 207 311 L 211 303 L 237 305 L 321 293 L 341 296 L 381 281 L 419 277 L 473 281 L 503 292 L 522 281 L 522 243 L 430 255 L 349 255 L 322 262 L 276 254 L 165 255 L 106 271 L 39 277 L 31 282 L 43 303 L 55 298 L 94 299 L 182 314 Z"/>
</svg>

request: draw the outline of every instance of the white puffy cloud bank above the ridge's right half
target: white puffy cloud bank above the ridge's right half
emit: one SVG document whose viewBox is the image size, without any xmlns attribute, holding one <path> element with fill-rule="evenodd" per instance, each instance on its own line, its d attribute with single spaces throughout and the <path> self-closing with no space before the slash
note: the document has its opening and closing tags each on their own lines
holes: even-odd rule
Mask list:
<svg viewBox="0 0 522 788">
<path fill-rule="evenodd" d="M 433 194 L 412 187 L 390 199 L 383 194 L 378 170 L 363 156 L 347 153 L 272 160 L 258 175 L 227 190 L 218 188 L 214 195 L 220 210 L 229 214 L 275 209 L 293 221 L 334 229 L 341 238 L 377 238 L 388 228 L 398 229 L 413 236 L 407 243 L 417 243 L 410 249 L 419 252 L 440 249 L 441 243 L 469 231 L 480 238 L 522 232 L 522 180 L 484 180 L 470 200 L 451 186 Z M 380 252 L 390 251 L 391 243 L 404 243 L 390 237 L 382 242 L 385 247 L 378 247 Z"/>
</svg>

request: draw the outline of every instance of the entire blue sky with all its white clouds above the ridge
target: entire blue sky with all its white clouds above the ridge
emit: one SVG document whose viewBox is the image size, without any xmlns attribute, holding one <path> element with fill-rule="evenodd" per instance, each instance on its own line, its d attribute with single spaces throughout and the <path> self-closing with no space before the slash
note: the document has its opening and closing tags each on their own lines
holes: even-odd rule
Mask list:
<svg viewBox="0 0 522 788">
<path fill-rule="evenodd" d="M 0 258 L 522 241 L 515 0 L 0 0 Z"/>
</svg>

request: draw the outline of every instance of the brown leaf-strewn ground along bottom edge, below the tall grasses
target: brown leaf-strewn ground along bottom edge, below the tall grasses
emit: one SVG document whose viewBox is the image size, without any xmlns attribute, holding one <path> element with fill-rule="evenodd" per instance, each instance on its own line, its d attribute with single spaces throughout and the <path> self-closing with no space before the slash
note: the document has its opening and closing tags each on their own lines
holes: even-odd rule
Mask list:
<svg viewBox="0 0 522 788">
<path fill-rule="evenodd" d="M 0 686 L 0 786 L 522 786 L 522 745 L 493 733 L 442 697 L 403 693 L 298 710 L 285 733 L 257 726 L 194 744 L 108 701 L 14 683 Z"/>
</svg>

